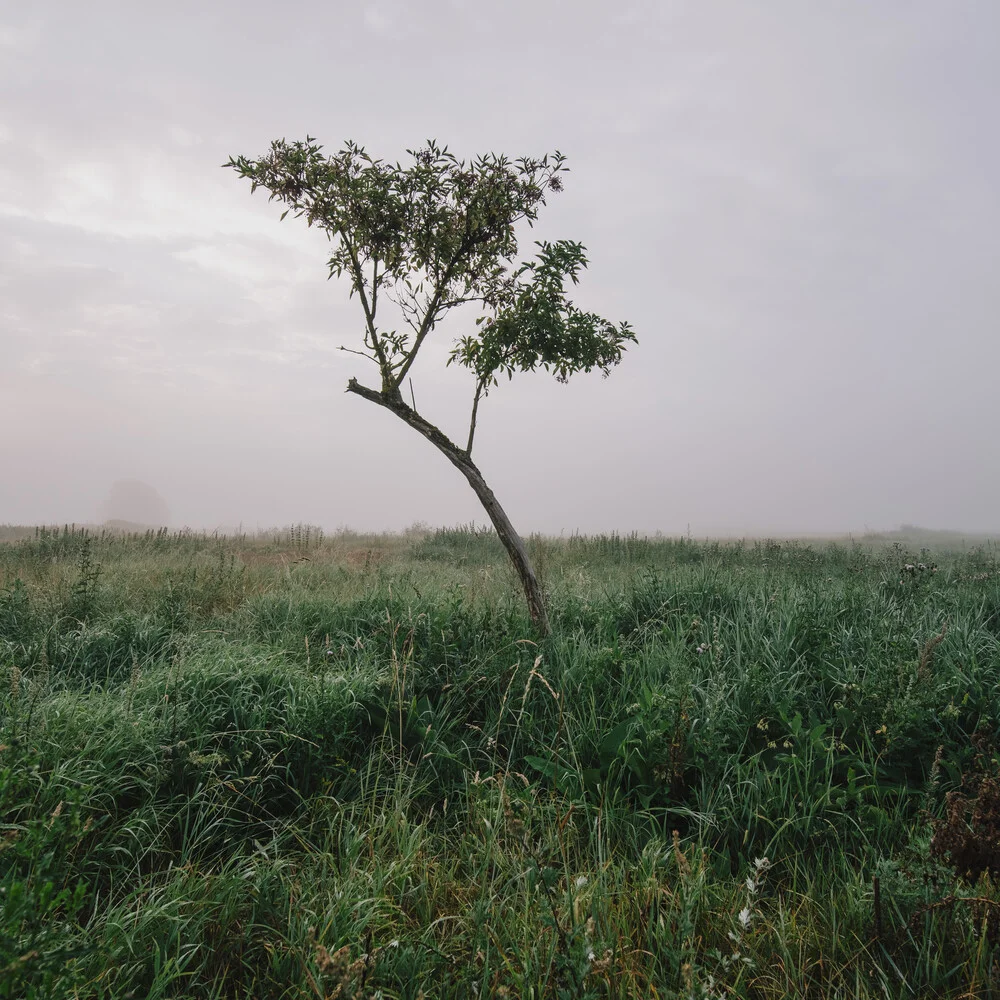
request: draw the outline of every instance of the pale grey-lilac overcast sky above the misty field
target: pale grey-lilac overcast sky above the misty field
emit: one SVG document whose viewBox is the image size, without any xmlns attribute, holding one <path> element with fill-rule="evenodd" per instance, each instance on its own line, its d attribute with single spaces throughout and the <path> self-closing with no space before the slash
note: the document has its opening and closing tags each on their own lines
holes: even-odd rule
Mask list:
<svg viewBox="0 0 1000 1000">
<path fill-rule="evenodd" d="M 0 523 L 130 478 L 175 527 L 485 521 L 344 393 L 322 235 L 220 169 L 309 133 L 567 155 L 526 254 L 586 244 L 577 303 L 639 343 L 484 403 L 522 531 L 997 530 L 998 94 L 995 0 L 0 0 Z"/>
</svg>

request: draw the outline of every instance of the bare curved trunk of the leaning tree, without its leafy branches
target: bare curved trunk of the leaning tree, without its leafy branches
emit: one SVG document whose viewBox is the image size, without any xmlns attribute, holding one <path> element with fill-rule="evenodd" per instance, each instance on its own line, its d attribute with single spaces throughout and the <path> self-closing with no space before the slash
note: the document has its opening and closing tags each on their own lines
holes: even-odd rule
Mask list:
<svg viewBox="0 0 1000 1000">
<path fill-rule="evenodd" d="M 514 530 L 514 525 L 510 523 L 510 518 L 507 517 L 493 490 L 490 489 L 483 478 L 483 474 L 479 471 L 475 462 L 472 461 L 472 456 L 469 452 L 459 448 L 446 434 L 435 427 L 434 424 L 425 420 L 412 407 L 407 406 L 403 402 L 403 397 L 398 390 L 392 394 L 378 392 L 375 389 L 369 389 L 367 386 L 361 385 L 357 379 L 352 378 L 347 383 L 347 391 L 353 392 L 372 403 L 377 403 L 379 406 L 384 406 L 387 410 L 391 410 L 400 420 L 405 421 L 415 431 L 418 431 L 427 438 L 465 476 L 473 492 L 479 497 L 479 502 L 483 505 L 486 513 L 489 514 L 490 520 L 493 522 L 493 527 L 496 529 L 503 547 L 507 550 L 507 555 L 510 556 L 510 561 L 514 564 L 514 569 L 517 570 L 525 599 L 528 602 L 528 613 L 531 615 L 531 620 L 535 628 L 543 636 L 549 635 L 549 618 L 545 610 L 545 598 L 542 594 L 542 588 L 538 585 L 538 578 L 535 576 L 531 561 L 528 559 L 524 541 Z"/>
</svg>

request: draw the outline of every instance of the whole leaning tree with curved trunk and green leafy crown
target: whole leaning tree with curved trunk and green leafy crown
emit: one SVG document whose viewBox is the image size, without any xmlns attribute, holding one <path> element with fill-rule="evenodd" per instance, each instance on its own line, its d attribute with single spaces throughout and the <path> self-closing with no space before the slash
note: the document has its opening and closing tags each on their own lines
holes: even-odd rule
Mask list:
<svg viewBox="0 0 1000 1000">
<path fill-rule="evenodd" d="M 535 258 L 515 264 L 516 225 L 532 225 L 548 192 L 562 190 L 565 158 L 510 160 L 493 153 L 465 161 L 430 141 L 409 150 L 403 166 L 373 159 L 348 142 L 333 156 L 315 139 L 271 143 L 257 160 L 231 157 L 225 164 L 286 205 L 310 226 L 326 231 L 333 244 L 330 276 L 347 275 L 364 314 L 363 349 L 352 353 L 373 362 L 379 388 L 352 378 L 347 391 L 391 410 L 422 434 L 469 481 L 517 570 L 531 618 L 549 630 L 545 601 L 524 542 L 483 474 L 472 461 L 479 404 L 502 375 L 538 368 L 565 382 L 577 372 L 605 376 L 621 360 L 635 335 L 578 309 L 567 297 L 587 266 L 584 247 L 569 240 L 536 243 Z M 396 307 L 385 328 L 384 301 Z M 477 305 L 471 332 L 452 348 L 448 364 L 468 368 L 475 378 L 469 433 L 464 446 L 417 412 L 403 387 L 435 326 L 453 309 Z"/>
</svg>

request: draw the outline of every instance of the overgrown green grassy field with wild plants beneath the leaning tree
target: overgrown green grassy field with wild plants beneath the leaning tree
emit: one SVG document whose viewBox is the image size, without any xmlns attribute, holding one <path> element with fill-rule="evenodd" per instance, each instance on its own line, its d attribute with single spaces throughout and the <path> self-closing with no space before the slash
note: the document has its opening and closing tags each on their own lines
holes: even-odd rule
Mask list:
<svg viewBox="0 0 1000 1000">
<path fill-rule="evenodd" d="M 995 546 L 6 538 L 0 997 L 1000 995 Z"/>
</svg>

